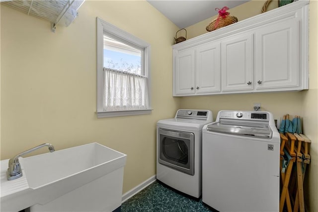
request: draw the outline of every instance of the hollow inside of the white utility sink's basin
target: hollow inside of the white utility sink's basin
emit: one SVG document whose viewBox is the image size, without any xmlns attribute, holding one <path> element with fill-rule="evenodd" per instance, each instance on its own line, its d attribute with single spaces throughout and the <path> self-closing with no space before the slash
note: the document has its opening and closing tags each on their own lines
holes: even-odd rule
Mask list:
<svg viewBox="0 0 318 212">
<path fill-rule="evenodd" d="M 110 163 L 119 157 L 124 157 L 124 154 L 98 143 L 92 143 L 23 158 L 20 162 L 22 168 L 24 167 L 29 186 L 36 189 L 84 171 L 93 171 L 93 175 L 96 175 L 96 170 L 89 169 L 97 168 L 102 164 L 106 165 L 106 162 Z M 115 163 L 112 164 L 115 165 Z M 108 172 L 116 169 L 117 166 L 108 166 L 107 171 L 103 167 L 99 168 L 103 172 Z"/>
</svg>

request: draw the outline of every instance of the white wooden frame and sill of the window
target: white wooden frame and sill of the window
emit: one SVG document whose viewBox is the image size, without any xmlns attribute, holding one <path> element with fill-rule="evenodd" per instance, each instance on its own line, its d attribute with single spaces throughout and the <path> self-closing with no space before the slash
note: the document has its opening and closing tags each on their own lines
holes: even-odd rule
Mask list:
<svg viewBox="0 0 318 212">
<path fill-rule="evenodd" d="M 142 115 L 150 114 L 152 111 L 151 107 L 151 79 L 150 79 L 150 50 L 151 46 L 149 43 L 135 37 L 134 35 L 125 32 L 124 30 L 96 17 L 97 19 L 97 117 L 114 117 L 114 116 L 126 116 L 126 115 Z M 103 67 L 104 67 L 104 32 L 107 35 L 111 35 L 116 40 L 119 40 L 125 44 L 133 47 L 142 48 L 142 72 L 148 79 L 148 99 L 149 104 L 147 109 L 134 109 L 134 110 L 104 110 L 103 109 Z"/>
</svg>

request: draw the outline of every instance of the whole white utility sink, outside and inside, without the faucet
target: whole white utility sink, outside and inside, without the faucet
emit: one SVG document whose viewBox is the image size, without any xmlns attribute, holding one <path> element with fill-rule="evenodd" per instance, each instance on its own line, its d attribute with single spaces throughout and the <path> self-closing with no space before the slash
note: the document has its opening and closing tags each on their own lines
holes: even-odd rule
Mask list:
<svg viewBox="0 0 318 212">
<path fill-rule="evenodd" d="M 102 200 L 104 204 L 97 204 L 99 208 L 96 211 L 113 211 L 121 205 L 126 157 L 127 155 L 101 144 L 90 143 L 20 158 L 23 176 L 11 181 L 3 176 L 8 160 L 1 161 L 1 211 L 16 212 L 29 207 L 30 211 L 85 211 L 85 207 L 90 207 L 91 198 L 79 200 L 78 196 L 85 193 L 89 197 L 96 195 L 98 198 L 101 194 L 95 192 L 96 185 L 105 200 L 110 199 L 116 203 L 116 206 L 110 207 L 110 203 L 105 204 L 106 201 Z M 100 182 L 102 179 L 105 182 Z M 114 185 L 119 188 L 114 188 Z M 95 190 L 83 191 L 83 188 Z M 110 190 L 110 197 L 107 196 L 107 190 Z M 117 196 L 116 200 L 114 196 Z M 68 208 L 74 205 L 79 208 Z M 96 200 L 92 205 L 96 205 Z M 89 208 L 89 211 L 94 210 Z"/>
</svg>

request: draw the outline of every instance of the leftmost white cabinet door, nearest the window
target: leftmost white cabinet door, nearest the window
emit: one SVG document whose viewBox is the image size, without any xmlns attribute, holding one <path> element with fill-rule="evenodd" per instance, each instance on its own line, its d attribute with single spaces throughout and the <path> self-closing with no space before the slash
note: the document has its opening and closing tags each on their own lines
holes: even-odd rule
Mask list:
<svg viewBox="0 0 318 212">
<path fill-rule="evenodd" d="M 175 54 L 174 96 L 194 94 L 194 49 Z"/>
</svg>

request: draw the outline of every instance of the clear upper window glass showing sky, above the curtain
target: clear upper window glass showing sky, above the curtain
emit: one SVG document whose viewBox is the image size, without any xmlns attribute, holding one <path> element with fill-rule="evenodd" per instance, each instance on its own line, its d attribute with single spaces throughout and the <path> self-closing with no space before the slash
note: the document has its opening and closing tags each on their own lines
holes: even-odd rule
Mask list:
<svg viewBox="0 0 318 212">
<path fill-rule="evenodd" d="M 142 75 L 142 51 L 104 35 L 104 67 Z"/>
</svg>

